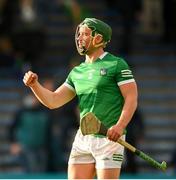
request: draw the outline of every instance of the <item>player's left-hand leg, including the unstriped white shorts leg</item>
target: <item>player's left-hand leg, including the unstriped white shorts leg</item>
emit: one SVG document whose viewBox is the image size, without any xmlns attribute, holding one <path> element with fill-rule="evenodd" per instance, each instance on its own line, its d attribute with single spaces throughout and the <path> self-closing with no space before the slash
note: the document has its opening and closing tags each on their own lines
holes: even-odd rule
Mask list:
<svg viewBox="0 0 176 180">
<path fill-rule="evenodd" d="M 68 162 L 69 179 L 93 179 L 95 159 L 90 152 L 90 135 L 83 136 L 78 130 Z"/>
</svg>

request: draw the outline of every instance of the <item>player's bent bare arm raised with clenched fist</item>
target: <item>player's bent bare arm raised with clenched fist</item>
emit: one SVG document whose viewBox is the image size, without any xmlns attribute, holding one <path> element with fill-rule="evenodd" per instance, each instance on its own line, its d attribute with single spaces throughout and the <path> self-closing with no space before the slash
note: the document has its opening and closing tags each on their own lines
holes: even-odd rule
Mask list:
<svg viewBox="0 0 176 180">
<path fill-rule="evenodd" d="M 26 86 L 31 88 L 37 99 L 50 109 L 60 107 L 75 97 L 74 91 L 70 90 L 65 85 L 61 85 L 54 92 L 44 88 L 38 82 L 37 74 L 32 71 L 25 74 L 23 82 Z"/>
</svg>

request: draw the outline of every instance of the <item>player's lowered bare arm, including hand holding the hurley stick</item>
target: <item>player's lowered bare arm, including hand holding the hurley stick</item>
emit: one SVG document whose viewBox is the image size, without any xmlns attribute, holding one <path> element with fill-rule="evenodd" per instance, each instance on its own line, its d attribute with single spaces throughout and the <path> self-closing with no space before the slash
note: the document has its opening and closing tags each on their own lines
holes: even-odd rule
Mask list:
<svg viewBox="0 0 176 180">
<path fill-rule="evenodd" d="M 137 107 L 137 86 L 136 83 L 128 83 L 120 86 L 121 93 L 124 97 L 124 106 L 120 118 L 117 121 L 117 124 L 112 126 L 108 130 L 108 138 L 113 141 L 123 134 L 124 129 L 130 122 L 136 107 Z"/>
</svg>

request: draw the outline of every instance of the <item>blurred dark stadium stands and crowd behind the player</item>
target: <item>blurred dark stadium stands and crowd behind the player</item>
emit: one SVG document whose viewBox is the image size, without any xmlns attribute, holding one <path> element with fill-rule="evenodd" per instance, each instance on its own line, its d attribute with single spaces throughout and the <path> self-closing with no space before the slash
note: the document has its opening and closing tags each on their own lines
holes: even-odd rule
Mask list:
<svg viewBox="0 0 176 180">
<path fill-rule="evenodd" d="M 66 172 L 79 126 L 77 100 L 48 110 L 24 87 L 27 70 L 48 89 L 82 61 L 76 26 L 85 17 L 109 23 L 107 51 L 124 57 L 139 86 L 127 141 L 176 174 L 175 0 L 0 0 L 0 173 Z M 124 173 L 158 170 L 126 152 Z"/>
</svg>

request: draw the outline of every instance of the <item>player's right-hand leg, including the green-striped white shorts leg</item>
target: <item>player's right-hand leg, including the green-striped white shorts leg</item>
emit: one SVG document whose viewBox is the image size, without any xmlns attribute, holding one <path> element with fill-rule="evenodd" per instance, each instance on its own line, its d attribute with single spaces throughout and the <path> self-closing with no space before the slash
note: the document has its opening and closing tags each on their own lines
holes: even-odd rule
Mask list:
<svg viewBox="0 0 176 180">
<path fill-rule="evenodd" d="M 121 138 L 124 140 L 125 135 Z M 96 159 L 97 178 L 118 179 L 123 161 L 124 147 L 109 141 L 107 138 L 99 138 L 95 142 L 93 152 Z"/>
</svg>

